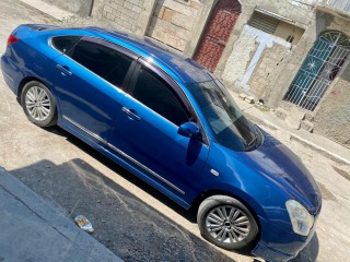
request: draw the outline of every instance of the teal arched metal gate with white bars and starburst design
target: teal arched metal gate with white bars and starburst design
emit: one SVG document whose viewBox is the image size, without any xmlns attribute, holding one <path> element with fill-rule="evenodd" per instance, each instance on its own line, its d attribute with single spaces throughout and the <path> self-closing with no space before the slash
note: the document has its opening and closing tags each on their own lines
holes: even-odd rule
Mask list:
<svg viewBox="0 0 350 262">
<path fill-rule="evenodd" d="M 284 100 L 313 111 L 349 58 L 350 38 L 338 31 L 323 33 L 308 52 Z"/>
</svg>

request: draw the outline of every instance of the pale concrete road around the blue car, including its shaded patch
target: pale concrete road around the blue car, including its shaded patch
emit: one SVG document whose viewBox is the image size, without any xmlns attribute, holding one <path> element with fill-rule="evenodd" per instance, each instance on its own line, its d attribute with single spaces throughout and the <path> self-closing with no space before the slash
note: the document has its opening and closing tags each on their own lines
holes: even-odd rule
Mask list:
<svg viewBox="0 0 350 262">
<path fill-rule="evenodd" d="M 0 52 L 21 23 L 51 23 L 50 17 L 22 5 L 0 1 Z M 196 214 L 186 212 L 133 175 L 59 128 L 30 123 L 0 76 L 0 166 L 73 218 L 85 215 L 93 236 L 126 261 L 237 261 L 254 258 L 228 252 L 205 241 Z M 273 131 L 310 168 L 324 193 L 310 252 L 296 261 L 349 261 L 349 167 L 291 142 Z M 318 252 L 319 251 L 319 252 Z"/>
</svg>

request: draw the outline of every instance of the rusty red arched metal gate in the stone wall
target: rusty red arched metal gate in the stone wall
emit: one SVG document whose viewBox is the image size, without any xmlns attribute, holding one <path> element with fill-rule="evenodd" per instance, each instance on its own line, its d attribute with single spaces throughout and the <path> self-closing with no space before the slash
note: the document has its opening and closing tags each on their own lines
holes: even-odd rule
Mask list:
<svg viewBox="0 0 350 262">
<path fill-rule="evenodd" d="M 215 4 L 194 59 L 213 72 L 241 14 L 237 0 L 219 0 Z"/>
</svg>

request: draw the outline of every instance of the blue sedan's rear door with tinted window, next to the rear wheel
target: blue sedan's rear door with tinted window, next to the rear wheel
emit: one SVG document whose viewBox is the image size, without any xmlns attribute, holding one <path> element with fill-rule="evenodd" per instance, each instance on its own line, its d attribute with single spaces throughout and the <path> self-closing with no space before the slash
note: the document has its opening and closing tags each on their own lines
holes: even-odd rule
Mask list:
<svg viewBox="0 0 350 262">
<path fill-rule="evenodd" d="M 137 57 L 91 37 L 81 38 L 65 52 L 55 61 L 60 121 L 85 139 L 104 144 L 121 109 L 124 86 Z"/>
</svg>

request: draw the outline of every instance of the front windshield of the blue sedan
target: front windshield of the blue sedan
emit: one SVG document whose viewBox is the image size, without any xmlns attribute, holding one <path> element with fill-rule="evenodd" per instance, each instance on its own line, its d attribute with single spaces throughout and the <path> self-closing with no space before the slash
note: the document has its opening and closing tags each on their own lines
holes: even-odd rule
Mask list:
<svg viewBox="0 0 350 262">
<path fill-rule="evenodd" d="M 218 81 L 188 84 L 218 143 L 234 151 L 257 147 L 259 132 L 242 114 L 226 88 Z"/>
</svg>

